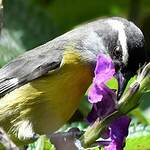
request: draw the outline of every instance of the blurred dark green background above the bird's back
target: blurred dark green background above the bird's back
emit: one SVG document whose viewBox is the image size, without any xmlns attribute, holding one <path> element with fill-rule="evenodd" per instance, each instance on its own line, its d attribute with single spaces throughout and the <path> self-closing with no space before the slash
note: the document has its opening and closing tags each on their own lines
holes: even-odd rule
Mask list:
<svg viewBox="0 0 150 150">
<path fill-rule="evenodd" d="M 137 24 L 150 55 L 150 0 L 4 0 L 3 5 L 0 67 L 81 23 L 109 16 L 125 17 Z M 147 117 L 150 94 L 143 99 L 140 109 Z M 83 114 L 85 107 L 83 102 Z"/>
</svg>

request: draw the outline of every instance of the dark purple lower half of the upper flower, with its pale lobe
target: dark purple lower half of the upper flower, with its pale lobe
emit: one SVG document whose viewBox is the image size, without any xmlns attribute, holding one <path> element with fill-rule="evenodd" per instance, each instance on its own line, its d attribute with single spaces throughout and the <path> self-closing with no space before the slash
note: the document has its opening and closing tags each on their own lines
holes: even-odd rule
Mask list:
<svg viewBox="0 0 150 150">
<path fill-rule="evenodd" d="M 93 103 L 92 110 L 87 117 L 90 123 L 98 117 L 103 119 L 116 109 L 116 93 L 104 84 L 102 87 L 102 90 L 97 87 L 93 93 L 89 93 L 89 101 Z"/>
</svg>

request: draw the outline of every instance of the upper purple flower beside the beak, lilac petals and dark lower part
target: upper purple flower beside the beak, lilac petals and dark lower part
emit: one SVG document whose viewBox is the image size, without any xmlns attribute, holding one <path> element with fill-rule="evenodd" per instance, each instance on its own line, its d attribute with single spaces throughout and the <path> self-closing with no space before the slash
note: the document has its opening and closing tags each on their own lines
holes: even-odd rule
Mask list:
<svg viewBox="0 0 150 150">
<path fill-rule="evenodd" d="M 115 68 L 111 58 L 104 54 L 99 55 L 93 84 L 88 93 L 88 99 L 93 103 L 92 111 L 87 118 L 89 122 L 95 121 L 97 117 L 102 119 L 115 110 L 116 93 L 105 85 L 114 74 Z"/>
</svg>

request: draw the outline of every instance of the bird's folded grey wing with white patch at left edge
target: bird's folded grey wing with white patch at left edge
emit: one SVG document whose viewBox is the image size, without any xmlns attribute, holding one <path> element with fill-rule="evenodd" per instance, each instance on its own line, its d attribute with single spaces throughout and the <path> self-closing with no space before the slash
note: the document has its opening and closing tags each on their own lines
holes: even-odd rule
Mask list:
<svg viewBox="0 0 150 150">
<path fill-rule="evenodd" d="M 63 50 L 45 44 L 26 52 L 0 69 L 0 97 L 59 68 Z"/>
</svg>

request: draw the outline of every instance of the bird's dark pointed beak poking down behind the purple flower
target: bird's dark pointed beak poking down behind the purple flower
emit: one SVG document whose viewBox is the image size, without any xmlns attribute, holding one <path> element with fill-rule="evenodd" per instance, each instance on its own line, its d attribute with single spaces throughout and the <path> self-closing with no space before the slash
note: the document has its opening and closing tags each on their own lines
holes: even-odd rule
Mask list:
<svg viewBox="0 0 150 150">
<path fill-rule="evenodd" d="M 121 73 L 121 71 L 118 71 L 115 74 L 116 79 L 118 80 L 118 93 L 117 93 L 117 99 L 119 100 L 120 97 L 122 96 L 128 81 L 131 79 L 131 77 L 133 76 L 133 74 L 131 72 L 127 72 L 127 73 Z"/>
</svg>

